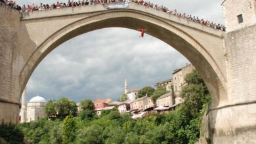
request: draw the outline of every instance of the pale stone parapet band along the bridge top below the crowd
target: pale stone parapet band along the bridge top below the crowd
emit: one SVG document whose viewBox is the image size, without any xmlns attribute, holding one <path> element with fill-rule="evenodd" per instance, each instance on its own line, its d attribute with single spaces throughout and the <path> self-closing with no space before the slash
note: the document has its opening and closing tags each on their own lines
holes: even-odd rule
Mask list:
<svg viewBox="0 0 256 144">
<path fill-rule="evenodd" d="M 205 33 L 209 33 L 217 37 L 223 37 L 223 34 L 224 34 L 223 31 L 213 29 L 211 27 L 207 27 L 202 24 L 198 24 L 196 22 L 186 20 L 184 18 L 179 18 L 178 16 L 173 16 L 172 14 L 167 14 L 167 12 L 163 12 L 161 10 L 153 9 L 151 7 L 145 7 L 144 5 L 138 5 L 137 3 L 129 3 L 129 8 L 127 9 L 112 9 L 112 10 L 127 10 L 127 11 L 137 10 L 138 12 L 152 14 L 154 16 L 158 16 L 158 18 L 163 18 L 164 20 L 168 20 L 169 22 L 173 22 L 182 26 L 197 29 L 199 31 L 203 31 Z M 37 10 L 37 11 L 24 12 L 22 14 L 21 20 L 35 20 L 35 19 L 53 18 L 53 17 L 60 17 L 60 16 L 72 16 L 72 15 L 78 15 L 78 14 L 91 15 L 91 14 L 97 14 L 97 13 L 106 12 L 106 11 L 107 9 L 105 9 L 104 6 L 101 4 L 86 5 L 86 6 L 79 6 L 79 7 L 66 7 L 63 9 Z"/>
</svg>

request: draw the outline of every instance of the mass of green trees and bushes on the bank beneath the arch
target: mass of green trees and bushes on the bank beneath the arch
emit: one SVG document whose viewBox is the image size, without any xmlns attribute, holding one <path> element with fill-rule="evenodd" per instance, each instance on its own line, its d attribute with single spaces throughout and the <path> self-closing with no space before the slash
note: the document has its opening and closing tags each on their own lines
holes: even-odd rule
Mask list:
<svg viewBox="0 0 256 144">
<path fill-rule="evenodd" d="M 70 115 L 63 122 L 40 119 L 20 124 L 18 127 L 26 139 L 33 143 L 196 143 L 200 137 L 202 115 L 210 96 L 197 71 L 186 75 L 185 80 L 187 85 L 181 92 L 184 103 L 181 103 L 176 111 L 167 114 L 132 120 L 131 114 L 119 115 L 117 109 L 113 109 L 102 111 L 100 117 L 96 118 L 95 113 L 91 111 L 91 101 L 86 100 L 83 102 L 85 106 L 79 113 L 79 118 Z M 152 98 L 157 99 L 166 93 L 166 90 L 159 88 L 154 91 L 153 88 L 145 87 L 140 94 L 150 96 L 150 92 Z M 69 100 L 64 98 L 61 102 L 52 101 L 49 105 L 57 105 L 59 102 L 65 107 L 70 103 L 67 101 Z M 53 111 L 53 108 L 49 107 L 49 111 Z"/>
</svg>

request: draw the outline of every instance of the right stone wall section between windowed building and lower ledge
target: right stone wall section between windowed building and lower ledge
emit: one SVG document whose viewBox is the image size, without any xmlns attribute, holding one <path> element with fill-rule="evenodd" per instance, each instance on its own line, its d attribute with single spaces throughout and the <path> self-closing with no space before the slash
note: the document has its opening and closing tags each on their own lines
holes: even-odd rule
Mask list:
<svg viewBox="0 0 256 144">
<path fill-rule="evenodd" d="M 256 24 L 226 33 L 224 40 L 229 101 L 256 101 Z"/>
</svg>

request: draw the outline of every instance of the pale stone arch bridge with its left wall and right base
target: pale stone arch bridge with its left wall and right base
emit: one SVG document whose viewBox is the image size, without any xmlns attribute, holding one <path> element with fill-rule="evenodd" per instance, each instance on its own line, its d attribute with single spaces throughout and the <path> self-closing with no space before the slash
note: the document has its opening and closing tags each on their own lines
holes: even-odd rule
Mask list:
<svg viewBox="0 0 256 144">
<path fill-rule="evenodd" d="M 102 5 L 89 5 L 24 14 L 1 5 L 0 119 L 18 123 L 20 96 L 30 75 L 58 45 L 95 29 L 138 29 L 141 26 L 148 29 L 146 33 L 149 35 L 181 52 L 202 75 L 213 98 L 203 120 L 205 137 L 211 138 L 211 141 L 215 139 L 213 142 L 218 143 L 232 142 L 234 137 L 247 134 L 249 131 L 245 128 L 253 126 L 255 119 L 238 124 L 230 123 L 240 118 L 255 118 L 256 113 L 236 113 L 248 111 L 249 107 L 255 107 L 255 103 L 246 94 L 241 97 L 232 95 L 234 90 L 239 89 L 240 94 L 244 94 L 245 90 L 233 84 L 234 77 L 231 76 L 234 69 L 230 65 L 227 44 L 224 43 L 228 35 L 135 3 L 129 3 L 128 9 L 106 10 Z M 237 133 L 238 129 L 244 130 L 242 134 Z M 226 139 L 228 136 L 230 138 Z"/>
</svg>

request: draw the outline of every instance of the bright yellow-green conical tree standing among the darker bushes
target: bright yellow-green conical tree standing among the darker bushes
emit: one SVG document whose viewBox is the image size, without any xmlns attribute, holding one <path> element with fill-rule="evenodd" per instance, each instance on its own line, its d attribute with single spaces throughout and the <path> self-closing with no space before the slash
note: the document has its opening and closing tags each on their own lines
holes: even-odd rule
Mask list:
<svg viewBox="0 0 256 144">
<path fill-rule="evenodd" d="M 62 126 L 62 141 L 63 144 L 74 143 L 76 138 L 76 126 L 75 126 L 75 118 L 72 115 L 68 115 L 64 121 Z"/>
</svg>

